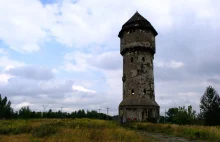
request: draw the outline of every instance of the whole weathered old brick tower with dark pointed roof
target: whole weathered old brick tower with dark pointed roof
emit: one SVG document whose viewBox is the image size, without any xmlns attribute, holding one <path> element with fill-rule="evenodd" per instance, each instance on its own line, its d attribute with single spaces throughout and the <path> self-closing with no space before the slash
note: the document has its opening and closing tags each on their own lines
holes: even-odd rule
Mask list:
<svg viewBox="0 0 220 142">
<path fill-rule="evenodd" d="M 122 120 L 144 121 L 158 118 L 155 101 L 153 59 L 156 52 L 156 30 L 136 12 L 119 33 L 123 56 L 123 100 L 119 105 Z"/>
</svg>

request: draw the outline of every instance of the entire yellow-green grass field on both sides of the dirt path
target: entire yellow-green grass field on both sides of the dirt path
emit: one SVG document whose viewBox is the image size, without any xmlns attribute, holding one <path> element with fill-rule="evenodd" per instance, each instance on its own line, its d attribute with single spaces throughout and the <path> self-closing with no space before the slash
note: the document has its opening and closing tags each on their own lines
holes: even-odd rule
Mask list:
<svg viewBox="0 0 220 142">
<path fill-rule="evenodd" d="M 154 142 L 155 138 L 135 130 L 220 141 L 220 127 L 129 123 L 93 119 L 0 120 L 0 142 Z M 129 128 L 129 129 L 128 129 Z"/>
</svg>

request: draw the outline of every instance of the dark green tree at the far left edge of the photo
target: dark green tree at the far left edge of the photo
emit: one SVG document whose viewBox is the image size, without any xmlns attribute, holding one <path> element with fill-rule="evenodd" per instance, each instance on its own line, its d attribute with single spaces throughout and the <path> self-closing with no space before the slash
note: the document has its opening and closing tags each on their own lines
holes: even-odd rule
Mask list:
<svg viewBox="0 0 220 142">
<path fill-rule="evenodd" d="M 0 94 L 0 119 L 1 118 L 12 118 L 13 109 L 11 108 L 11 102 L 8 101 L 7 97 L 1 97 Z"/>
</svg>

